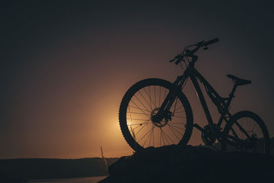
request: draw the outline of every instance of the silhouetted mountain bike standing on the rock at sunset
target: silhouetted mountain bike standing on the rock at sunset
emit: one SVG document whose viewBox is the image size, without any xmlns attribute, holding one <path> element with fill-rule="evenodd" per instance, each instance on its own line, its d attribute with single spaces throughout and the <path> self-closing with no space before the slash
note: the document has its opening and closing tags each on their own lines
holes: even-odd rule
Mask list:
<svg viewBox="0 0 274 183">
<path fill-rule="evenodd" d="M 194 53 L 201 48 L 206 50 L 208 45 L 218 41 L 215 38 L 188 45 L 182 53 L 175 56 L 170 62 L 186 65 L 183 75 L 178 76 L 175 82 L 151 78 L 141 80 L 127 90 L 119 109 L 119 123 L 123 136 L 132 149 L 138 151 L 150 146 L 186 145 L 192 134 L 192 127 L 196 127 L 201 131 L 203 143 L 215 149 L 269 154 L 269 132 L 262 119 L 249 111 L 240 111 L 234 115 L 229 112 L 237 86 L 251 84 L 251 81 L 227 75 L 234 82 L 234 87 L 229 97 L 220 97 L 195 69 L 198 57 Z M 190 103 L 182 93 L 188 78 L 194 85 L 206 114 L 208 125 L 205 127 L 193 124 Z M 197 80 L 206 88 L 206 93 L 221 114 L 218 123 L 212 121 Z M 222 128 L 223 121 L 226 123 Z"/>
</svg>

